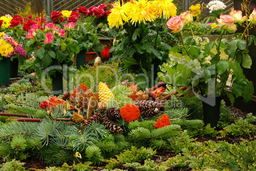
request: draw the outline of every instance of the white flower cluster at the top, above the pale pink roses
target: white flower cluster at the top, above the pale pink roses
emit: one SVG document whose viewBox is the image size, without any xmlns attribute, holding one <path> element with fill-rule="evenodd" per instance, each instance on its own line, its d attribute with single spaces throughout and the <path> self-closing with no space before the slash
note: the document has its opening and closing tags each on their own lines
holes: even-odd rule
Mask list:
<svg viewBox="0 0 256 171">
<path fill-rule="evenodd" d="M 206 5 L 206 8 L 209 9 L 210 15 L 212 15 L 213 17 L 220 17 L 220 15 L 222 13 L 224 13 L 224 9 L 227 6 L 222 2 L 222 1 L 210 1 L 210 3 L 208 3 L 208 5 Z"/>
</svg>

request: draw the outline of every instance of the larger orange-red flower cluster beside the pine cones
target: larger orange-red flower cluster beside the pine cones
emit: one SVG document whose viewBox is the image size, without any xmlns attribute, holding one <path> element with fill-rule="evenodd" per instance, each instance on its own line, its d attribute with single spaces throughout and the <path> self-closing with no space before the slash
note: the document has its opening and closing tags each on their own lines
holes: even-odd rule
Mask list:
<svg viewBox="0 0 256 171">
<path fill-rule="evenodd" d="M 139 107 L 134 106 L 133 104 L 125 104 L 125 107 L 120 108 L 120 114 L 122 118 L 127 121 L 131 122 L 134 120 L 139 120 Z"/>
</svg>

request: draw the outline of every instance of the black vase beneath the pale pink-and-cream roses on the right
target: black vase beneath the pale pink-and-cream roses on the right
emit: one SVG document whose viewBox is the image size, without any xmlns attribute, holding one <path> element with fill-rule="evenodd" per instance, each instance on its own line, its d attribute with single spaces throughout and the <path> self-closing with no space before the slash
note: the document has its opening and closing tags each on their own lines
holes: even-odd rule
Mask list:
<svg viewBox="0 0 256 171">
<path fill-rule="evenodd" d="M 218 120 L 220 120 L 220 102 L 223 97 L 200 98 L 203 103 L 203 121 L 205 126 L 210 123 L 211 128 L 217 127 Z"/>
</svg>

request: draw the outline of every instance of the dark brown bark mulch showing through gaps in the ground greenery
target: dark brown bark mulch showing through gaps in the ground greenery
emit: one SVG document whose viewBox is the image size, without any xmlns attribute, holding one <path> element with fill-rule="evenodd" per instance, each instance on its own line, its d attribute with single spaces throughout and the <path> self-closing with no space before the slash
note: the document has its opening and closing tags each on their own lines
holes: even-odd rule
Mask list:
<svg viewBox="0 0 256 171">
<path fill-rule="evenodd" d="M 3 85 L 0 86 L 0 88 L 6 88 L 8 86 L 10 86 L 12 83 L 15 83 L 19 80 L 20 78 L 17 79 L 11 79 L 10 80 L 10 84 L 9 85 Z M 35 82 L 35 81 L 34 81 Z M 36 83 L 31 82 L 32 85 L 36 85 Z M 232 107 L 232 106 L 227 106 L 227 108 L 231 111 L 231 114 L 234 118 L 238 119 L 238 118 L 246 118 L 247 113 L 241 111 L 240 109 L 237 109 L 236 107 Z M 0 109 L 0 113 L 4 112 L 3 110 Z M 256 116 L 256 114 L 253 114 L 254 116 Z M 254 123 L 256 125 L 256 123 Z M 225 136 L 225 137 L 221 137 L 219 134 L 216 137 L 210 137 L 208 135 L 204 135 L 204 136 L 197 136 L 194 137 L 196 139 L 197 142 L 206 142 L 208 140 L 213 140 L 215 142 L 219 142 L 219 141 L 226 141 L 229 142 L 230 144 L 234 144 L 234 143 L 240 143 L 242 141 L 242 139 L 245 140 L 255 140 L 256 139 L 256 134 L 255 135 L 251 135 L 250 137 L 247 135 L 243 135 L 243 136 L 239 136 L 239 137 L 234 137 L 234 136 Z M 157 154 L 152 158 L 152 160 L 155 161 L 155 163 L 160 163 L 163 161 L 166 161 L 168 158 L 171 158 L 173 156 L 176 156 L 176 153 L 173 153 L 172 151 L 169 150 L 159 150 L 157 151 Z M 23 161 L 25 163 L 24 167 L 28 170 L 44 170 L 46 167 L 49 167 L 45 161 L 43 160 L 39 160 L 37 158 L 28 158 L 27 160 Z M 0 160 L 0 164 L 3 163 L 3 161 Z M 143 163 L 141 163 L 143 164 Z M 60 167 L 60 166 L 59 166 Z M 94 166 L 93 170 L 103 170 L 105 167 L 104 165 L 102 166 Z M 124 166 L 119 166 L 117 167 L 119 169 L 123 169 L 123 170 L 128 170 L 128 171 L 137 171 L 134 168 L 131 167 L 124 167 Z M 176 168 L 176 167 L 171 167 L 168 169 L 169 171 L 171 170 L 192 170 L 192 168 L 190 167 L 184 167 L 184 168 Z M 70 169 L 70 171 L 73 171 L 73 169 Z"/>
</svg>

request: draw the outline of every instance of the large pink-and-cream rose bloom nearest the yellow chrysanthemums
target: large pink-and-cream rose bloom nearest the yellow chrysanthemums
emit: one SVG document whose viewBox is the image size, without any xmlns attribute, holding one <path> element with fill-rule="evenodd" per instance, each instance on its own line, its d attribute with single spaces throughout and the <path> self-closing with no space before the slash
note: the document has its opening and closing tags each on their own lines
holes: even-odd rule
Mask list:
<svg viewBox="0 0 256 171">
<path fill-rule="evenodd" d="M 170 18 L 166 25 L 169 29 L 173 30 L 171 32 L 180 32 L 184 26 L 184 19 L 177 15 L 176 17 Z"/>
</svg>

